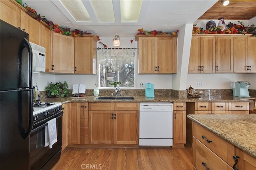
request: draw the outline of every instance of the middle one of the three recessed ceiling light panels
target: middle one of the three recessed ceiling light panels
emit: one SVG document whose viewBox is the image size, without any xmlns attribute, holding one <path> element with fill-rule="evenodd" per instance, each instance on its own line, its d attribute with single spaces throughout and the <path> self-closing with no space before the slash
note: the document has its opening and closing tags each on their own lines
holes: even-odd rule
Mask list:
<svg viewBox="0 0 256 170">
<path fill-rule="evenodd" d="M 90 0 L 90 3 L 99 22 L 115 21 L 112 0 Z"/>
</svg>

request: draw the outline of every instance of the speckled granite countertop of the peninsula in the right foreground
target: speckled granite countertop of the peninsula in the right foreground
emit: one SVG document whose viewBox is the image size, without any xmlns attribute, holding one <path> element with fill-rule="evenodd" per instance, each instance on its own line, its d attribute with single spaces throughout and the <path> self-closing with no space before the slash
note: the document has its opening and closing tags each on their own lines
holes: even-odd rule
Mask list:
<svg viewBox="0 0 256 170">
<path fill-rule="evenodd" d="M 256 115 L 188 115 L 222 139 L 256 158 Z"/>
</svg>

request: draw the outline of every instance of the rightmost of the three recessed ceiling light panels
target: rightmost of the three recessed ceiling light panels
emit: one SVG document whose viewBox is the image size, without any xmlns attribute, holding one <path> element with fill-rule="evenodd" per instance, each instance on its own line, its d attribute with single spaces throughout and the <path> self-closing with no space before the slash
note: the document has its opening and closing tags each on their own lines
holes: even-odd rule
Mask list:
<svg viewBox="0 0 256 170">
<path fill-rule="evenodd" d="M 120 0 L 121 21 L 138 22 L 142 0 Z"/>
</svg>

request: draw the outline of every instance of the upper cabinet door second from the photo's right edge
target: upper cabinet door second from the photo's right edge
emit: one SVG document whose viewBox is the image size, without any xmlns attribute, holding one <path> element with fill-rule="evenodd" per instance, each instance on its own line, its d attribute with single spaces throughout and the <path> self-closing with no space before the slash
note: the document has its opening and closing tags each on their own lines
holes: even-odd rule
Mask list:
<svg viewBox="0 0 256 170">
<path fill-rule="evenodd" d="M 248 37 L 234 37 L 234 72 L 248 72 L 247 66 Z"/>
</svg>

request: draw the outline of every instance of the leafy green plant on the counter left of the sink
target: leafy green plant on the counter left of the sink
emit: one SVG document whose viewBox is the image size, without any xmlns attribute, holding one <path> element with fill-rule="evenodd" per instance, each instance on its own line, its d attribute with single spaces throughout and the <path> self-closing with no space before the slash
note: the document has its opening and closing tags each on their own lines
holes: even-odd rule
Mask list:
<svg viewBox="0 0 256 170">
<path fill-rule="evenodd" d="M 45 87 L 47 96 L 49 98 L 54 97 L 65 97 L 69 96 L 71 92 L 68 91 L 68 84 L 65 81 L 64 83 L 58 82 L 53 84 L 52 82 Z"/>
</svg>

